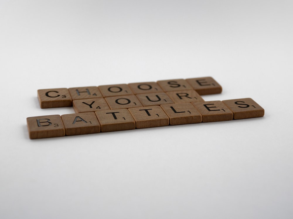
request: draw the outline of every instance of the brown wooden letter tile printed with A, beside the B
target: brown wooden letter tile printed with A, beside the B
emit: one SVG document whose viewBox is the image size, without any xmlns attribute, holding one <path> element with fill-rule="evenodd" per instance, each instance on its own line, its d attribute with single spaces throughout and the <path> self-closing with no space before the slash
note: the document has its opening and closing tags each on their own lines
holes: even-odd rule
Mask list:
<svg viewBox="0 0 293 219">
<path fill-rule="evenodd" d="M 64 114 L 61 116 L 66 135 L 83 135 L 98 133 L 100 123 L 94 112 Z"/>
</svg>

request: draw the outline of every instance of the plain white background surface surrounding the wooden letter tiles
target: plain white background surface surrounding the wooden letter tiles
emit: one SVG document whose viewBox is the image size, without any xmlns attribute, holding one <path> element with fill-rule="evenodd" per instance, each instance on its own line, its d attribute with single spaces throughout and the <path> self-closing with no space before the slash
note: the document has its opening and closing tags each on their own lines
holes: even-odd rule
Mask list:
<svg viewBox="0 0 293 219">
<path fill-rule="evenodd" d="M 0 1 L 0 218 L 293 218 L 293 3 Z M 30 140 L 37 90 L 212 76 L 261 118 Z"/>
</svg>

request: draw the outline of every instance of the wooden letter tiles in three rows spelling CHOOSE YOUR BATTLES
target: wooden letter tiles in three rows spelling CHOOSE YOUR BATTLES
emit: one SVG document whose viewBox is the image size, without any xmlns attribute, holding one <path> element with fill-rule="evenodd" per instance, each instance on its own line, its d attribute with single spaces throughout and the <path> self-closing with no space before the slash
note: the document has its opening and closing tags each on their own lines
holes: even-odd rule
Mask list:
<svg viewBox="0 0 293 219">
<path fill-rule="evenodd" d="M 31 139 L 262 117 L 251 98 L 205 101 L 221 93 L 212 77 L 38 90 L 41 108 L 76 113 L 28 117 Z"/>
</svg>

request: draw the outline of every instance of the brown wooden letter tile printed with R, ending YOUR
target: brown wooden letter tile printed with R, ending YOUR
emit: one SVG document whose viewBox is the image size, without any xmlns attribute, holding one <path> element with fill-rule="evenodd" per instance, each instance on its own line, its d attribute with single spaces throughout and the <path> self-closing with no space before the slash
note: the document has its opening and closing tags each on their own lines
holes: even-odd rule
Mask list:
<svg viewBox="0 0 293 219">
<path fill-rule="evenodd" d="M 195 90 L 166 92 L 175 103 L 204 102 L 205 100 Z"/>
</svg>

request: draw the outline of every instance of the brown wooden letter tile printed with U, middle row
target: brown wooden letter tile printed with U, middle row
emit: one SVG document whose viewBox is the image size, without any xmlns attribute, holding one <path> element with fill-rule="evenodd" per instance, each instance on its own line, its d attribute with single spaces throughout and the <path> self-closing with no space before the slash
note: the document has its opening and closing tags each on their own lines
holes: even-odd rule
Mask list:
<svg viewBox="0 0 293 219">
<path fill-rule="evenodd" d="M 174 103 L 173 100 L 164 92 L 162 93 L 142 93 L 136 95 L 143 106 L 155 106 Z"/>
</svg>

